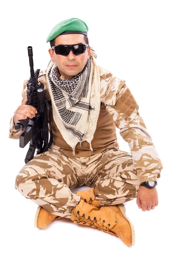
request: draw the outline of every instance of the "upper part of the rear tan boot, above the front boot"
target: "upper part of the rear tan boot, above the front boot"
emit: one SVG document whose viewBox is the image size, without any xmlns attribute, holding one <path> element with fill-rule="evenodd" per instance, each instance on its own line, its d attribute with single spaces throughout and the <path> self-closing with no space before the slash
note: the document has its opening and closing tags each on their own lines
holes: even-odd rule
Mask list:
<svg viewBox="0 0 170 256">
<path fill-rule="evenodd" d="M 84 200 L 86 203 L 96 206 L 98 208 L 100 207 L 99 201 L 95 200 L 94 188 L 78 191 L 76 195 L 81 195 L 81 199 Z"/>
</svg>

